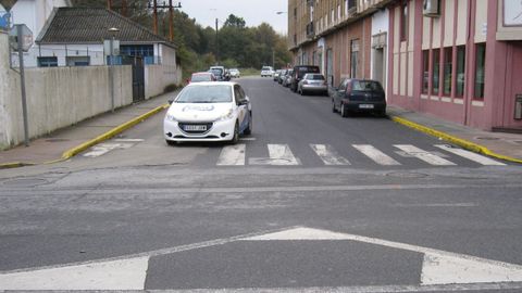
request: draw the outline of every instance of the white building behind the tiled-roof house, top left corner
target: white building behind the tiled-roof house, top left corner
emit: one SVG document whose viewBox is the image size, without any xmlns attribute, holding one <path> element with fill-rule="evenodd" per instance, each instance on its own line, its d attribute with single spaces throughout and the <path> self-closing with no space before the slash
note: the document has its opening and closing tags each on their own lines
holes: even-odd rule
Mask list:
<svg viewBox="0 0 522 293">
<path fill-rule="evenodd" d="M 63 7 L 72 7 L 71 0 L 18 0 L 11 8 L 10 13 L 13 24 L 25 24 L 33 31 L 33 38 L 36 39 L 53 9 Z M 0 10 L 3 9 L 0 8 Z M 37 54 L 38 50 L 33 46 L 27 53 L 24 53 L 24 65 L 36 67 Z M 13 65 L 17 66 L 17 54 L 13 54 L 12 60 Z"/>
</svg>

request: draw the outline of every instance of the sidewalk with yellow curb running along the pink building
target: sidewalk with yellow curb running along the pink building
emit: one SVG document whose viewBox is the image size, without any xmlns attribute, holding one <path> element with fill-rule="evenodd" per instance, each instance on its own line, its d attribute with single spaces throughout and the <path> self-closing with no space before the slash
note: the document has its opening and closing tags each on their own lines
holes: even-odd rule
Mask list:
<svg viewBox="0 0 522 293">
<path fill-rule="evenodd" d="M 388 105 L 387 113 L 397 123 L 448 140 L 464 149 L 522 163 L 522 135 L 484 131 L 393 105 Z"/>
</svg>

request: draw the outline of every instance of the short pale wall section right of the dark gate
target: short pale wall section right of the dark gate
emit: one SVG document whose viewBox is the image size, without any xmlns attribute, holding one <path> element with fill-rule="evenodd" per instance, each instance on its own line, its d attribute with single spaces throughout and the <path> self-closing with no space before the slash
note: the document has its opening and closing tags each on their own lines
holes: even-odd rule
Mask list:
<svg viewBox="0 0 522 293">
<path fill-rule="evenodd" d="M 176 65 L 176 52 L 173 48 L 160 44 L 161 65 L 145 66 L 145 98 L 163 93 L 169 85 L 182 84 L 182 71 Z"/>
</svg>

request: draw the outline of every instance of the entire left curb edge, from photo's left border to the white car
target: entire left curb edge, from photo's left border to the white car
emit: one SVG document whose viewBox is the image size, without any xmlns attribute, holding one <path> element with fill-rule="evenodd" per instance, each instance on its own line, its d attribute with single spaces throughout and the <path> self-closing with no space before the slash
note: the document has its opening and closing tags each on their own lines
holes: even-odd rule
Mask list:
<svg viewBox="0 0 522 293">
<path fill-rule="evenodd" d="M 86 141 L 77 146 L 74 146 L 73 149 L 70 149 L 67 151 L 65 151 L 63 154 L 62 154 L 62 157 L 59 158 L 59 160 L 54 160 L 54 161 L 50 161 L 50 162 L 45 162 L 42 164 L 45 165 L 48 165 L 48 164 L 54 164 L 54 163 L 60 163 L 60 162 L 63 162 L 63 161 L 66 161 L 75 155 L 77 155 L 78 153 L 82 153 L 83 151 L 89 149 L 90 146 L 92 145 L 96 145 L 102 141 L 105 141 L 125 130 L 127 130 L 128 128 L 144 122 L 145 119 L 149 118 L 150 116 L 154 115 L 154 114 L 158 114 L 160 113 L 161 111 L 167 109 L 170 105 L 169 104 L 164 104 L 164 105 L 161 105 L 161 106 L 158 106 L 132 120 L 128 120 L 109 131 L 107 131 L 105 133 L 101 135 L 101 136 L 98 136 L 97 138 L 95 139 L 91 139 L 89 141 Z M 10 169 L 10 168 L 18 168 L 18 167 L 25 167 L 25 166 L 35 166 L 35 165 L 38 165 L 37 163 L 24 163 L 24 162 L 11 162 L 11 163 L 4 163 L 4 164 L 0 164 L 0 169 Z"/>
</svg>

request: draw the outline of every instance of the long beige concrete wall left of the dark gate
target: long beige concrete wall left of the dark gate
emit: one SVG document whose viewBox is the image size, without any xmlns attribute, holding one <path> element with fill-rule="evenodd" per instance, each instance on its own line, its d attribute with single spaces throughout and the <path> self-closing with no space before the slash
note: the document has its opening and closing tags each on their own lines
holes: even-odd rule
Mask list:
<svg viewBox="0 0 522 293">
<path fill-rule="evenodd" d="M 24 140 L 20 76 L 9 68 L 8 36 L 0 33 L 0 149 Z M 107 66 L 26 69 L 29 136 L 50 133 L 111 110 Z M 132 67 L 115 66 L 115 106 L 133 102 Z"/>
</svg>

